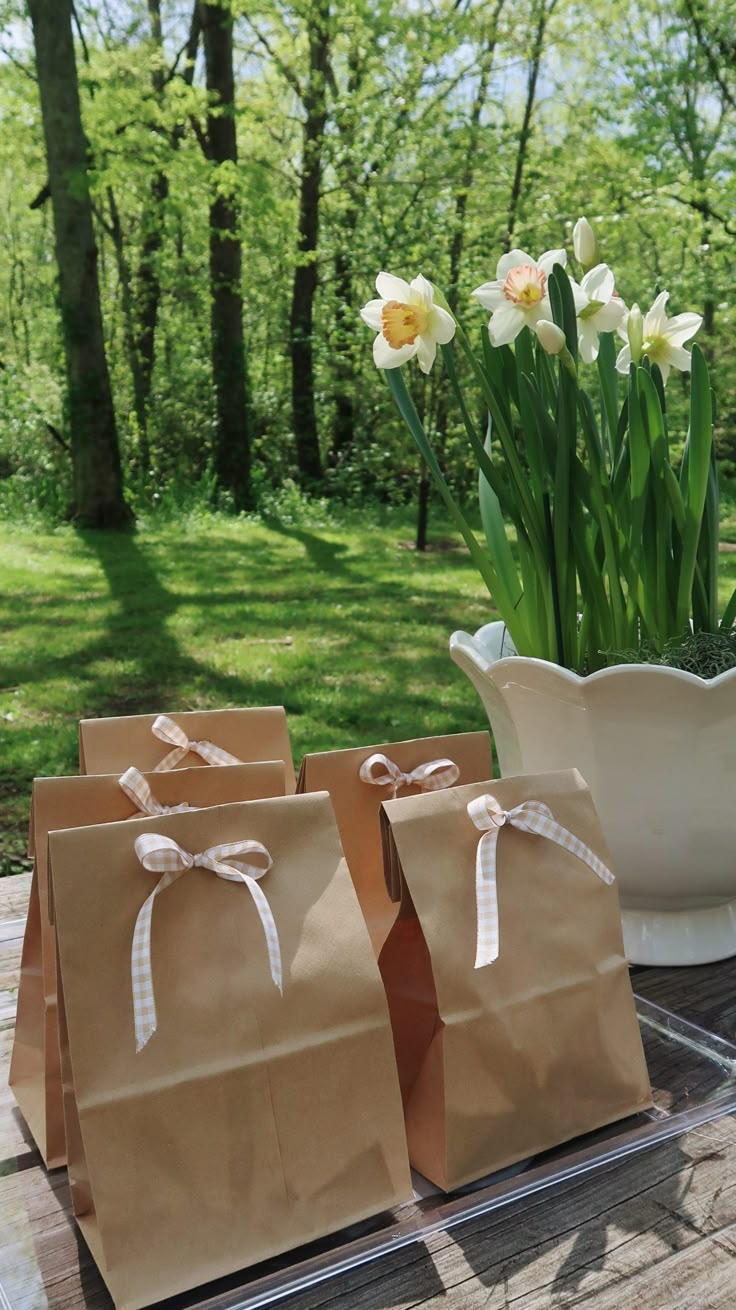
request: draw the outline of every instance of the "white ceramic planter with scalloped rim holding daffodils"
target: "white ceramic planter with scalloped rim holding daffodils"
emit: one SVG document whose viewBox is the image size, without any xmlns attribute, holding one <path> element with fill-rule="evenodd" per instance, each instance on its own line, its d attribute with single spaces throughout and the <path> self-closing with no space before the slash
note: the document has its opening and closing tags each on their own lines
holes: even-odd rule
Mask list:
<svg viewBox="0 0 736 1310">
<path fill-rule="evenodd" d="M 710 681 L 652 664 L 579 677 L 515 654 L 503 624 L 453 633 L 503 774 L 578 768 L 618 878 L 627 956 L 736 955 L 736 669 Z"/>
</svg>

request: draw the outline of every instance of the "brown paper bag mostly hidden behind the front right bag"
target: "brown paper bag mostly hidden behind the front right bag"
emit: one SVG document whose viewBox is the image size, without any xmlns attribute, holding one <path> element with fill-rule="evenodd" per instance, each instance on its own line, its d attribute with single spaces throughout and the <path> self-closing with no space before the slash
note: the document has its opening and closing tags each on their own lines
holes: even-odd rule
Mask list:
<svg viewBox="0 0 736 1310">
<path fill-rule="evenodd" d="M 381 783 L 363 781 L 360 769 L 373 755 L 385 756 L 403 778 L 398 778 L 386 765 L 377 762 L 371 773 L 384 781 Z M 394 781 L 398 782 L 397 795 L 416 795 L 422 790 L 420 783 L 407 783 L 406 778 L 414 769 L 422 773 L 423 765 L 443 758 L 457 765 L 458 773 L 454 779 L 457 783 L 491 778 L 494 766 L 490 734 L 460 732 L 415 741 L 389 741 L 384 745 L 364 745 L 348 751 L 326 751 L 321 755 L 306 755 L 301 761 L 296 790 L 329 791 L 333 798 L 347 866 L 376 954 L 381 950 L 397 914 L 397 907 L 389 900 L 384 879 L 378 823 L 381 802 L 394 794 Z M 447 785 L 448 778 L 452 778 L 452 774 L 445 776 L 444 770 L 437 769 L 428 774 L 426 782 L 430 786 L 436 781 Z"/>
</svg>

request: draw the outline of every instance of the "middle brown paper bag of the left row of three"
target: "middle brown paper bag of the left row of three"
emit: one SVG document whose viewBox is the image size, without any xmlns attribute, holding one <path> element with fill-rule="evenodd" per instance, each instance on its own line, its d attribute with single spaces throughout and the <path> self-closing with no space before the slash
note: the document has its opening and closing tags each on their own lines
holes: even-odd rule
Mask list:
<svg viewBox="0 0 736 1310">
<path fill-rule="evenodd" d="M 149 773 L 144 781 L 162 806 L 215 806 L 284 794 L 282 760 L 229 769 Z M 33 785 L 29 853 L 34 855 L 21 959 L 18 1009 L 9 1083 L 48 1169 L 64 1165 L 64 1114 L 56 1014 L 56 946 L 50 918 L 47 845 L 56 828 L 117 823 L 140 808 L 117 776 L 37 778 Z"/>
</svg>

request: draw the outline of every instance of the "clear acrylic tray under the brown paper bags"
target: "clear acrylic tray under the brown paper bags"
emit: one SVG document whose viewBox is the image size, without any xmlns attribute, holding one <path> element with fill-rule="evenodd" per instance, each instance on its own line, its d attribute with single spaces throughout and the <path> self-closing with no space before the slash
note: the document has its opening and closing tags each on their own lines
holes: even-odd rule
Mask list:
<svg viewBox="0 0 736 1310">
<path fill-rule="evenodd" d="M 195 1306 L 198 1310 L 257 1310 L 274 1305 L 339 1279 L 359 1265 L 380 1262 L 432 1234 L 592 1174 L 735 1111 L 736 1045 L 640 996 L 636 1011 L 653 1110 L 566 1142 L 451 1195 L 437 1192 L 416 1176 L 414 1201 L 397 1210 L 174 1297 L 165 1302 L 166 1310 Z M 46 1175 L 41 1167 L 30 1167 L 34 1158 L 38 1158 L 35 1151 L 25 1159 L 18 1158 L 16 1170 L 20 1172 L 0 1176 L 0 1220 L 9 1234 L 9 1246 L 0 1239 L 0 1248 L 4 1246 L 4 1256 L 8 1256 L 0 1258 L 0 1310 L 52 1310 L 58 1305 L 58 1288 L 67 1279 L 80 1288 L 80 1305 L 88 1310 L 107 1310 L 111 1301 L 68 1213 L 65 1174 L 56 1170 Z M 554 1199 L 550 1200 L 554 1204 Z M 64 1213 L 59 1216 L 62 1224 L 51 1231 L 54 1210 Z M 335 1290 L 339 1292 L 339 1284 Z M 72 1303 L 77 1301 L 64 1300 L 64 1305 Z"/>
</svg>

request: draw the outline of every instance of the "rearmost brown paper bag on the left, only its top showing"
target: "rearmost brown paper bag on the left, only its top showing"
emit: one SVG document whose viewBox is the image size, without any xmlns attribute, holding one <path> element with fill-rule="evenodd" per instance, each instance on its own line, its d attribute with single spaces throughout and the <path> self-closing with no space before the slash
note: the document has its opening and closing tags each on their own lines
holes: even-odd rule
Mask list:
<svg viewBox="0 0 736 1310">
<path fill-rule="evenodd" d="M 157 719 L 168 719 L 156 735 Z M 196 749 L 177 749 L 179 741 Z M 213 747 L 210 753 L 208 747 Z M 211 756 L 211 757 L 208 757 Z M 187 710 L 183 714 L 131 714 L 80 723 L 80 773 L 122 773 L 130 765 L 145 772 L 168 772 L 204 764 L 249 764 L 283 760 L 287 793 L 295 789 L 293 761 L 283 706 L 246 710 Z M 173 761 L 173 762 L 168 762 Z"/>
</svg>

